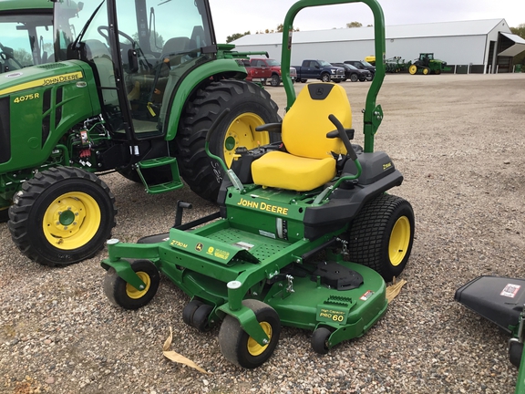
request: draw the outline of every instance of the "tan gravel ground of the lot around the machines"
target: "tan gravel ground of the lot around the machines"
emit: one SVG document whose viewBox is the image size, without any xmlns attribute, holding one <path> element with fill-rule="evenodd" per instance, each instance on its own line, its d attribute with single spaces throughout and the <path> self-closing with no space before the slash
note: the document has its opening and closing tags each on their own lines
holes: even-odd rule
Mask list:
<svg viewBox="0 0 525 394">
<path fill-rule="evenodd" d="M 368 83 L 343 86 L 362 130 Z M 267 89 L 283 115 L 283 88 Z M 416 214 L 407 285 L 364 337 L 326 356 L 313 352 L 309 332 L 284 327 L 268 362 L 237 368 L 221 356 L 218 328 L 201 334 L 184 325 L 189 299 L 166 278 L 148 306 L 124 311 L 102 291 L 106 252 L 47 268 L 20 254 L 0 224 L 0 391 L 513 392 L 508 338 L 453 297 L 478 275 L 525 274 L 524 102 L 525 74 L 386 76 L 376 150 L 405 175 L 393 193 Z M 118 175 L 104 179 L 117 198 L 113 235 L 122 241 L 167 230 L 177 200 L 193 202 L 185 220 L 214 209 L 188 188 L 153 196 Z M 163 358 L 170 327 L 171 348 L 209 375 Z"/>
</svg>

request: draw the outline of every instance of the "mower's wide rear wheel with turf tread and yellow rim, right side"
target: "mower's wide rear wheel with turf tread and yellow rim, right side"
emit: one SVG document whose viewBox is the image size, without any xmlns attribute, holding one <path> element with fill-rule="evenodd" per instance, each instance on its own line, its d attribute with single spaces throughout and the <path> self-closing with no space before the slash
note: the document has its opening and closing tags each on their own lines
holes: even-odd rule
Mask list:
<svg viewBox="0 0 525 394">
<path fill-rule="evenodd" d="M 376 197 L 366 203 L 350 226 L 350 261 L 373 268 L 390 282 L 407 265 L 414 226 L 410 202 L 390 194 Z"/>
</svg>

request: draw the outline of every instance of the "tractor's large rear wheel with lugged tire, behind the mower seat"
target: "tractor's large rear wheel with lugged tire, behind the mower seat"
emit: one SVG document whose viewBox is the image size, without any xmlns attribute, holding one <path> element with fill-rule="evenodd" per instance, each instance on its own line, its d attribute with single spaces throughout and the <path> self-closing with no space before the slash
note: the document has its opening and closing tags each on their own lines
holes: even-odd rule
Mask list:
<svg viewBox="0 0 525 394">
<path fill-rule="evenodd" d="M 199 89 L 182 115 L 174 149 L 184 181 L 193 192 L 211 202 L 217 201 L 224 174 L 219 163 L 206 154 L 204 145 L 211 124 L 227 108 L 231 111 L 211 136 L 210 150 L 228 167 L 237 147 L 250 150 L 279 140 L 279 135 L 254 130 L 281 120 L 278 107 L 267 91 L 251 82 L 234 79 L 212 82 Z"/>
</svg>

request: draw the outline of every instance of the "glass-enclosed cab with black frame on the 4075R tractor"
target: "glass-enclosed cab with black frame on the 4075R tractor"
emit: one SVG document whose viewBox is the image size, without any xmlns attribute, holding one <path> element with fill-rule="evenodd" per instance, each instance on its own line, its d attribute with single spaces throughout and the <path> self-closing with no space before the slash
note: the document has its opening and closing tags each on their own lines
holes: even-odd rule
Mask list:
<svg viewBox="0 0 525 394">
<path fill-rule="evenodd" d="M 113 139 L 165 133 L 166 108 L 181 79 L 217 52 L 207 1 L 57 1 L 57 60 L 93 69 Z"/>
</svg>

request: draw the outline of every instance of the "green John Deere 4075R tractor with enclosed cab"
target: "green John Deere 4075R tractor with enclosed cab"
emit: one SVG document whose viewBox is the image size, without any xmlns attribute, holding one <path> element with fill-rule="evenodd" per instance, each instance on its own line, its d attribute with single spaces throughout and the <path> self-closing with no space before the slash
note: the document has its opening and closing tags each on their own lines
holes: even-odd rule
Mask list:
<svg viewBox="0 0 525 394">
<path fill-rule="evenodd" d="M 215 40 L 208 0 L 54 1 L 57 62 L 0 79 L 0 214 L 40 264 L 100 250 L 115 198 L 99 175 L 118 171 L 149 193 L 182 187 L 216 201 L 238 145 L 271 142 L 270 95 L 243 80 L 232 45 Z"/>
</svg>

